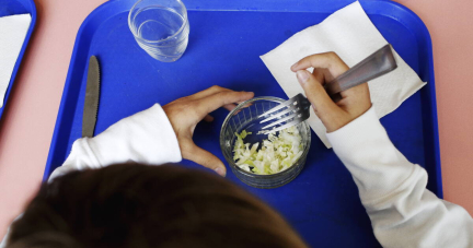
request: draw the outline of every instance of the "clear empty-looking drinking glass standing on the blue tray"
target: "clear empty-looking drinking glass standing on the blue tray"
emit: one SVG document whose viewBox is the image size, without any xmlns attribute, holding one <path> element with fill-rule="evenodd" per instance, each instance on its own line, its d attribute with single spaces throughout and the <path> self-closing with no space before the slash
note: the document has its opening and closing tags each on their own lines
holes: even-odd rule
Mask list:
<svg viewBox="0 0 473 248">
<path fill-rule="evenodd" d="M 128 14 L 128 26 L 138 45 L 163 62 L 174 62 L 184 54 L 189 24 L 181 0 L 139 0 Z"/>
</svg>

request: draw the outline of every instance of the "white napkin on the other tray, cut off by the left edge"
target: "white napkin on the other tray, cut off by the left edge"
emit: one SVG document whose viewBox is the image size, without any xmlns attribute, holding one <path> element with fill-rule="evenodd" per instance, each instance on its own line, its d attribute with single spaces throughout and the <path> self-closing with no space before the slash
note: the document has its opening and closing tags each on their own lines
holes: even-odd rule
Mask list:
<svg viewBox="0 0 473 248">
<path fill-rule="evenodd" d="M 0 17 L 0 108 L 30 23 L 30 14 Z"/>
</svg>

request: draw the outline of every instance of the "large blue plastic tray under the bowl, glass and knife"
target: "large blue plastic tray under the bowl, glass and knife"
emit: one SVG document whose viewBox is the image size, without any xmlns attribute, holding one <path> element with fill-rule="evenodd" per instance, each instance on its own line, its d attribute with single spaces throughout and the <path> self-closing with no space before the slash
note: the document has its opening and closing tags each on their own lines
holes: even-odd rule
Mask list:
<svg viewBox="0 0 473 248">
<path fill-rule="evenodd" d="M 189 45 L 176 62 L 152 59 L 136 44 L 127 25 L 134 0 L 104 3 L 84 21 L 66 81 L 45 179 L 60 166 L 72 142 L 81 137 L 86 63 L 101 63 L 101 99 L 96 133 L 154 103 L 162 105 L 214 84 L 256 96 L 286 97 L 259 59 L 296 32 L 323 21 L 353 0 L 185 1 L 191 23 Z M 328 4 L 330 2 L 330 4 Z M 428 82 L 394 113 L 382 118 L 396 147 L 425 166 L 428 188 L 442 196 L 431 43 L 423 22 L 391 1 L 361 5 L 402 58 Z M 195 141 L 222 161 L 219 131 L 227 111 L 212 123 L 200 123 Z M 159 151 L 157 151 L 159 152 Z M 184 165 L 199 167 L 184 161 Z M 305 168 L 290 184 L 270 190 L 243 185 L 229 169 L 228 179 L 280 211 L 304 240 L 316 247 L 379 247 L 356 185 L 332 150 L 313 135 Z"/>
</svg>

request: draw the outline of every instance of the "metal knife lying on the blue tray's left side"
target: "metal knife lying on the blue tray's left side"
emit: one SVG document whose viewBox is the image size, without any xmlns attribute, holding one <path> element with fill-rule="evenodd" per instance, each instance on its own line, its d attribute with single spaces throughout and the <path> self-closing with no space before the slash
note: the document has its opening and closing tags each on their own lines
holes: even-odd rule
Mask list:
<svg viewBox="0 0 473 248">
<path fill-rule="evenodd" d="M 82 137 L 92 138 L 99 111 L 100 66 L 95 56 L 89 59 L 89 71 L 85 87 L 85 101 L 82 117 Z"/>
</svg>

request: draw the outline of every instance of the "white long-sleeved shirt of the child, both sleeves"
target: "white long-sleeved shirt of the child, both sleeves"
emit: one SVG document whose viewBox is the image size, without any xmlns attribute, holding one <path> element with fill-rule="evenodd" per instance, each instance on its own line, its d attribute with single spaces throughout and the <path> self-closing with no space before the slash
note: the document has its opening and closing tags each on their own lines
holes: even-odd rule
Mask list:
<svg viewBox="0 0 473 248">
<path fill-rule="evenodd" d="M 473 247 L 470 214 L 426 189 L 425 169 L 409 163 L 395 149 L 373 108 L 327 133 L 327 138 L 358 186 L 380 244 L 383 247 Z M 129 161 L 159 165 L 181 160 L 172 126 L 162 108 L 154 105 L 118 121 L 95 138 L 77 140 L 65 164 L 49 180 L 70 170 Z"/>
</svg>

